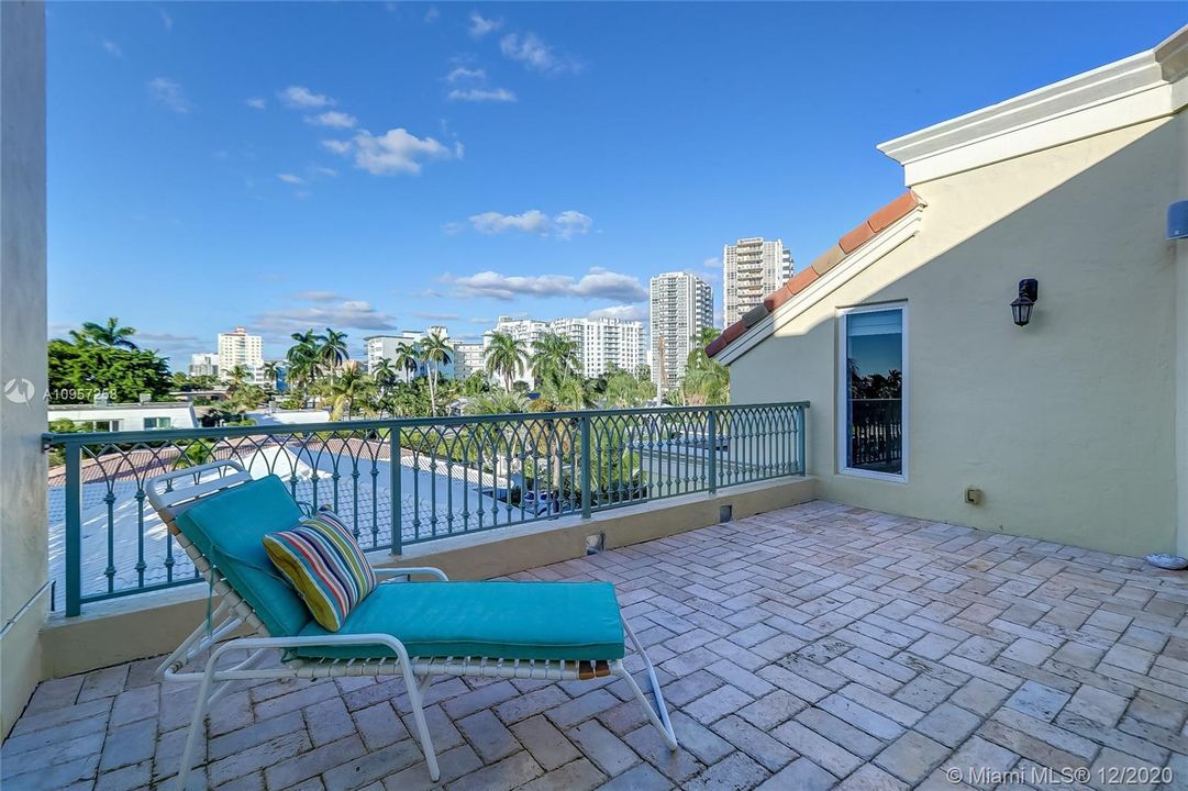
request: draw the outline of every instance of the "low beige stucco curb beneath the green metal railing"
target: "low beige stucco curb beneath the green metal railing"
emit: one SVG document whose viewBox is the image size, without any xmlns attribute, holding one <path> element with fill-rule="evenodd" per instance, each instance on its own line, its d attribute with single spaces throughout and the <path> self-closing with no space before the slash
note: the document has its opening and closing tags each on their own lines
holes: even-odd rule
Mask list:
<svg viewBox="0 0 1188 791">
<path fill-rule="evenodd" d="M 595 514 L 459 536 L 407 548 L 397 559 L 372 553 L 377 565 L 436 567 L 451 580 L 485 580 L 586 556 L 588 536 L 602 533 L 606 549 L 665 538 L 719 521 L 722 506 L 741 519 L 805 502 L 816 481 L 796 477 L 690 494 Z M 207 613 L 204 586 L 90 605 L 77 618 L 55 615 L 42 634 L 43 678 L 106 667 L 169 653 Z"/>
</svg>

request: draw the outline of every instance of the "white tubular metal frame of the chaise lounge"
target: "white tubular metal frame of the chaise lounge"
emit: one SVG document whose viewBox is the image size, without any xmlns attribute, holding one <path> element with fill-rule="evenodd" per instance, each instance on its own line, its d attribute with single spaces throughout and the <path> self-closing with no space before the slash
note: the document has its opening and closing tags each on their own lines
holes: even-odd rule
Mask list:
<svg viewBox="0 0 1188 791">
<path fill-rule="evenodd" d="M 203 481 L 202 479 L 206 475 L 213 475 L 213 477 Z M 191 480 L 192 485 L 185 487 L 177 486 L 177 482 L 187 479 Z M 209 582 L 211 596 L 217 594 L 221 600 L 208 619 L 194 629 L 177 650 L 169 654 L 157 667 L 158 676 L 166 682 L 198 684 L 198 700 L 194 707 L 194 716 L 190 720 L 190 730 L 185 740 L 185 749 L 182 753 L 182 762 L 177 774 L 178 791 L 185 789 L 187 778 L 194 765 L 194 752 L 197 748 L 198 734 L 203 729 L 203 723 L 210 707 L 228 691 L 232 683 L 246 679 L 403 676 L 422 752 L 429 766 L 429 776 L 435 781 L 441 777 L 441 770 L 437 766 L 437 755 L 434 752 L 432 739 L 429 735 L 429 727 L 425 723 L 422 701 L 436 676 L 532 678 L 557 682 L 617 676 L 627 683 L 634 697 L 647 713 L 649 721 L 661 732 L 661 736 L 669 749 L 677 749 L 676 733 L 672 730 L 672 723 L 669 721 L 668 707 L 661 692 L 659 681 L 656 678 L 656 669 L 652 666 L 651 659 L 647 658 L 647 652 L 644 650 L 643 644 L 639 643 L 639 638 L 636 637 L 636 633 L 631 629 L 625 618 L 621 619 L 623 628 L 631 640 L 632 648 L 643 659 L 652 697 L 656 701 L 655 707 L 647 702 L 644 691 L 636 683 L 631 672 L 624 666 L 621 659 L 609 662 L 561 662 L 500 659 L 493 657 L 410 657 L 400 640 L 391 634 L 330 634 L 318 638 L 268 637 L 267 629 L 255 615 L 251 605 L 227 583 L 219 570 L 178 530 L 176 524 L 177 515 L 198 500 L 241 486 L 251 480 L 252 476 L 239 462 L 222 460 L 158 475 L 147 486 L 148 501 L 169 527 L 173 539 L 177 540 L 178 545 L 185 550 L 185 553 L 194 562 L 194 567 Z M 431 576 L 441 581 L 448 581 L 448 577 L 441 569 L 428 567 L 375 569 L 375 576 L 379 577 L 380 584 L 392 584 L 402 578 L 411 582 L 413 576 Z M 251 637 L 232 637 L 236 631 L 245 628 L 249 631 Z M 293 659 L 280 663 L 279 666 L 257 666 L 260 659 L 266 657 L 272 650 L 286 651 L 311 646 L 352 645 L 381 645 L 388 648 L 393 656 L 379 659 Z M 246 659 L 227 667 L 219 667 L 219 662 L 223 654 L 228 651 L 239 650 L 249 652 Z M 201 671 L 184 670 L 191 660 L 206 651 L 210 651 L 210 654 Z"/>
</svg>

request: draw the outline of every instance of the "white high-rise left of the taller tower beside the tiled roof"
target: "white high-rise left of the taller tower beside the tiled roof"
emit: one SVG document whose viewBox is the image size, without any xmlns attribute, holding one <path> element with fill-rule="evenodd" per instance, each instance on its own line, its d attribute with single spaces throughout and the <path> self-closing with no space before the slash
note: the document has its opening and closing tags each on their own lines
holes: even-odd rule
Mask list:
<svg viewBox="0 0 1188 791">
<path fill-rule="evenodd" d="M 659 394 L 676 390 L 693 349 L 693 336 L 714 325 L 714 291 L 688 272 L 651 280 L 652 381 Z"/>
</svg>

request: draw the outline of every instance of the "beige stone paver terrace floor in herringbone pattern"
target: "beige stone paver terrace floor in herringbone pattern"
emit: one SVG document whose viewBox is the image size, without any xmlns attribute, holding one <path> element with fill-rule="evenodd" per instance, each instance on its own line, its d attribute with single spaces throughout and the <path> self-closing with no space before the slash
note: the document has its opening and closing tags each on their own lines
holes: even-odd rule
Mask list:
<svg viewBox="0 0 1188 791">
<path fill-rule="evenodd" d="M 1188 787 L 1188 577 L 1133 558 L 816 501 L 519 576 L 617 584 L 683 751 L 621 682 L 446 679 L 450 790 Z M 194 698 L 153 664 L 42 684 L 5 791 L 173 774 Z M 194 787 L 429 787 L 411 728 L 397 681 L 241 689 Z"/>
</svg>

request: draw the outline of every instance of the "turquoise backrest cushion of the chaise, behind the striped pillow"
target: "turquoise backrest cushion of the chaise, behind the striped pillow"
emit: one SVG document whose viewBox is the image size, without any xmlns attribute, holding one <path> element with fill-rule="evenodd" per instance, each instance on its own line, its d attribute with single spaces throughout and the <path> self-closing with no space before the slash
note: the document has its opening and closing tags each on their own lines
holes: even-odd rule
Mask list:
<svg viewBox="0 0 1188 791">
<path fill-rule="evenodd" d="M 183 511 L 177 527 L 227 577 L 272 637 L 292 637 L 309 610 L 282 577 L 261 539 L 302 520 L 301 508 L 276 475 L 220 492 Z"/>
</svg>

